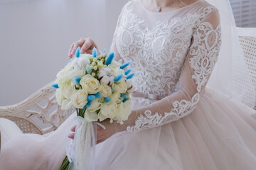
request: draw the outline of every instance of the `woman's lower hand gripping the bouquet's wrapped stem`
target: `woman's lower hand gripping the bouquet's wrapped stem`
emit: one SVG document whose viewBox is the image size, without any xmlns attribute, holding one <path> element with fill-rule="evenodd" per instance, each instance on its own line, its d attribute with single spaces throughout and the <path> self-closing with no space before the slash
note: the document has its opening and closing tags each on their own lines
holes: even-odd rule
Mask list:
<svg viewBox="0 0 256 170">
<path fill-rule="evenodd" d="M 116 123 L 116 122 L 110 123 L 110 120 L 104 120 L 100 123 L 102 125 L 104 125 L 106 129 L 103 129 L 99 125 L 96 125 L 96 127 L 97 127 L 97 144 L 107 140 L 107 138 L 111 137 L 116 132 L 121 132 L 121 131 L 126 130 L 126 127 L 127 127 L 127 125 L 125 125 L 125 124 L 120 125 L 119 123 Z M 71 128 L 71 131 L 75 132 L 75 128 L 76 128 L 76 126 Z M 74 139 L 74 135 L 75 135 L 75 133 L 72 133 L 72 134 L 68 135 L 68 137 L 71 139 Z"/>
</svg>

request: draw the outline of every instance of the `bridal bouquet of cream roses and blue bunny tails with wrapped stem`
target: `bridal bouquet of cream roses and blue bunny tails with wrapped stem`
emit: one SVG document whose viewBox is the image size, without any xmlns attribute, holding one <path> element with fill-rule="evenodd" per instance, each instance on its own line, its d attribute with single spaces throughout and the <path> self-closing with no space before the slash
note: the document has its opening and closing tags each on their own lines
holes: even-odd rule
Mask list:
<svg viewBox="0 0 256 170">
<path fill-rule="evenodd" d="M 132 113 L 129 94 L 134 91 L 131 79 L 134 73 L 130 73 L 131 69 L 124 71 L 130 62 L 122 64 L 113 58 L 114 53 L 97 55 L 96 49 L 92 55 L 80 54 L 78 48 L 75 57 L 57 74 L 52 87 L 57 89 L 58 104 L 63 110 L 74 106 L 80 116 L 76 142 L 69 147 L 61 169 L 70 169 L 70 163 L 73 169 L 87 169 L 88 148 L 95 138 L 92 122 L 110 119 L 110 123 L 115 120 L 122 124 Z"/>
</svg>

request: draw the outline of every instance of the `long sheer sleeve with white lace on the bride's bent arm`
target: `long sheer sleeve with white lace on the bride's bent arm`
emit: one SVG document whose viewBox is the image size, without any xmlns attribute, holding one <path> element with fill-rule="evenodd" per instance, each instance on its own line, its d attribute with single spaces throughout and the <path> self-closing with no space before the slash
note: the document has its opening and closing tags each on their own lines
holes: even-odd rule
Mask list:
<svg viewBox="0 0 256 170">
<path fill-rule="evenodd" d="M 193 112 L 217 62 L 221 44 L 220 30 L 218 11 L 202 18 L 194 30 L 176 92 L 145 108 L 133 111 L 134 121 L 133 125 L 127 127 L 128 131 L 154 128 Z"/>
</svg>

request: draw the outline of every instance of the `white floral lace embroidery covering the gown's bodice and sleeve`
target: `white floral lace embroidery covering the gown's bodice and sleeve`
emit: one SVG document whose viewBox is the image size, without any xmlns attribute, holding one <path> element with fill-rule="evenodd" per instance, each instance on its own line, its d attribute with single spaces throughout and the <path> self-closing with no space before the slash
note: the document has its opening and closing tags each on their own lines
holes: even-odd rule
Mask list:
<svg viewBox="0 0 256 170">
<path fill-rule="evenodd" d="M 196 50 L 191 50 L 190 64 L 194 70 L 193 79 L 196 81 L 198 93 L 191 101 L 173 101 L 170 112 L 161 115 L 146 111 L 139 115 L 135 125 L 127 127 L 129 131 L 153 128 L 183 118 L 190 114 L 199 101 L 201 86 L 206 84 L 207 78 L 217 60 L 220 26 L 213 30 L 210 23 L 201 23 L 209 13 L 216 11 L 213 6 L 203 8 L 201 13 L 188 13 L 183 17 L 172 18 L 171 21 L 158 21 L 152 29 L 142 28 L 145 20 L 139 18 L 129 8 L 130 1 L 122 11 L 119 28 L 116 35 L 116 47 L 124 60 L 136 60 L 131 67 L 136 69 L 134 84 L 137 91 L 149 94 L 168 96 L 175 91 L 181 75 L 183 62 L 186 59 L 191 37 L 198 40 L 193 43 Z M 198 28 L 196 30 L 195 28 Z M 196 33 L 193 33 L 196 30 Z M 218 39 L 218 40 L 217 40 Z M 199 42 L 200 41 L 200 42 Z M 207 45 L 204 45 L 206 42 Z M 202 52 L 210 51 L 207 57 Z M 175 57 L 171 57 L 175 56 Z M 145 98 L 145 100 L 148 100 Z M 144 103 L 151 103 L 146 102 Z"/>
</svg>

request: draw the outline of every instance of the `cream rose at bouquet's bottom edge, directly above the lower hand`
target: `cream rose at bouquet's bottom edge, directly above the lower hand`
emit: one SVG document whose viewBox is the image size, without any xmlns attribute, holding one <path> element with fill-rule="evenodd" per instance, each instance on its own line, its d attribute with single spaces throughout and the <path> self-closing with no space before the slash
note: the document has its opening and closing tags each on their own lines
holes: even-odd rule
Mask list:
<svg viewBox="0 0 256 170">
<path fill-rule="evenodd" d="M 117 115 L 117 104 L 112 101 L 102 103 L 100 113 L 104 115 L 105 118 L 114 119 L 114 117 Z"/>
</svg>

